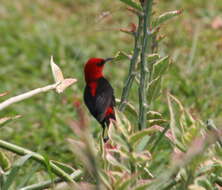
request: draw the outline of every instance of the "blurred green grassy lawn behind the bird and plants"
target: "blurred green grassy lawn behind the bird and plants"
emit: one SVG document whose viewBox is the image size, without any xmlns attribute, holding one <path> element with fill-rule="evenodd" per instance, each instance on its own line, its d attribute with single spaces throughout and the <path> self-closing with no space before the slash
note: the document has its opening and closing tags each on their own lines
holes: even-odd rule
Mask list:
<svg viewBox="0 0 222 190">
<path fill-rule="evenodd" d="M 181 9 L 183 14 L 161 28 L 166 35 L 159 52 L 170 55 L 173 64 L 165 75 L 163 93 L 152 109 L 168 119 L 164 92 L 169 90 L 197 118 L 221 119 L 222 29 L 213 29 L 222 16 L 219 0 L 156 1 L 155 15 Z M 1 128 L 0 138 L 72 165 L 73 155 L 66 139 L 74 134 L 73 102 L 83 101 L 83 66 L 89 57 L 110 57 L 118 51 L 131 53 L 133 39 L 119 31 L 136 22 L 118 0 L 1 0 L 0 3 L 0 93 L 8 97 L 53 83 L 49 60 L 78 83 L 62 95 L 51 91 L 12 105 L 0 117 L 22 115 Z M 105 75 L 120 98 L 128 61 L 106 66 Z M 130 101 L 137 106 L 137 85 Z M 86 107 L 83 109 L 88 114 Z M 130 118 L 130 116 L 129 116 Z M 91 130 L 100 126 L 90 117 Z M 136 124 L 136 123 L 135 123 Z"/>
</svg>

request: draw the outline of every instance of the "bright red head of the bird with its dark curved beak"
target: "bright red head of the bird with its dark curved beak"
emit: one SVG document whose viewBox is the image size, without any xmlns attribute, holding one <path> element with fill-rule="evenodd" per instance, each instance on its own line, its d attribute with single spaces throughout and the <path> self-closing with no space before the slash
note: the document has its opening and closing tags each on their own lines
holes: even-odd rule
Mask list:
<svg viewBox="0 0 222 190">
<path fill-rule="evenodd" d="M 84 67 L 86 83 L 96 81 L 97 79 L 103 77 L 104 64 L 111 60 L 112 58 L 90 58 Z"/>
</svg>

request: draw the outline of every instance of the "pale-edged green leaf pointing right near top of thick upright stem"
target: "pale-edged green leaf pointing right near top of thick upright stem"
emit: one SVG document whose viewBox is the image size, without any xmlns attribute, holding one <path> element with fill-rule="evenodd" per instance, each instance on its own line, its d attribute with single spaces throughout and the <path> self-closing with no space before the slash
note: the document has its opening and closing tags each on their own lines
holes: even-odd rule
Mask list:
<svg viewBox="0 0 222 190">
<path fill-rule="evenodd" d="M 180 15 L 181 12 L 182 11 L 180 11 L 180 10 L 176 10 L 176 11 L 169 11 L 169 12 L 163 13 L 153 22 L 153 27 L 158 27 L 159 25 L 174 18 L 175 16 Z"/>
</svg>

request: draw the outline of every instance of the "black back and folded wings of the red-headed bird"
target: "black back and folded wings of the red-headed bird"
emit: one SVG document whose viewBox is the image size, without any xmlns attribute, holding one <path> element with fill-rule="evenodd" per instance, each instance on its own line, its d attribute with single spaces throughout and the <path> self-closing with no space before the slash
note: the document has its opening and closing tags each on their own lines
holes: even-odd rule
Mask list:
<svg viewBox="0 0 222 190">
<path fill-rule="evenodd" d="M 102 123 L 105 118 L 107 108 L 115 106 L 113 88 L 103 77 L 98 80 L 95 96 L 90 94 L 90 87 L 87 86 L 85 88 L 84 100 L 90 113 L 100 123 Z"/>
</svg>

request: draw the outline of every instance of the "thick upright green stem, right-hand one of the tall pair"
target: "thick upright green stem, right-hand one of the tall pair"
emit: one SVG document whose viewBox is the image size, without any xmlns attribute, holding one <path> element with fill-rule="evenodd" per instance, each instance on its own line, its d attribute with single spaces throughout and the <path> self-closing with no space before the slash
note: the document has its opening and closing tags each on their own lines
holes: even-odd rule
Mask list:
<svg viewBox="0 0 222 190">
<path fill-rule="evenodd" d="M 147 85 L 150 75 L 146 55 L 151 52 L 151 15 L 153 0 L 146 0 L 144 4 L 144 22 L 143 22 L 143 39 L 141 51 L 141 69 L 140 69 L 140 86 L 139 86 L 139 129 L 146 128 L 147 113 Z"/>
</svg>

